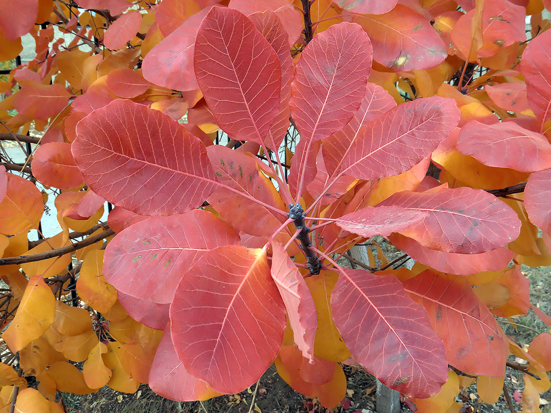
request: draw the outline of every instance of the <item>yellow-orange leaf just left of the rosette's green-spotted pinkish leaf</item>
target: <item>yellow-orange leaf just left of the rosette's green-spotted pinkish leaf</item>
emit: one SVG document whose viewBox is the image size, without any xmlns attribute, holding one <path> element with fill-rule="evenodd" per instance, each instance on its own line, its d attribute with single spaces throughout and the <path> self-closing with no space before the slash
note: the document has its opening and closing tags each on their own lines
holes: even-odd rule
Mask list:
<svg viewBox="0 0 551 413">
<path fill-rule="evenodd" d="M 85 257 L 77 279 L 77 294 L 96 311 L 104 314 L 117 301 L 117 291 L 102 275 L 104 251 L 93 249 Z"/>
</svg>

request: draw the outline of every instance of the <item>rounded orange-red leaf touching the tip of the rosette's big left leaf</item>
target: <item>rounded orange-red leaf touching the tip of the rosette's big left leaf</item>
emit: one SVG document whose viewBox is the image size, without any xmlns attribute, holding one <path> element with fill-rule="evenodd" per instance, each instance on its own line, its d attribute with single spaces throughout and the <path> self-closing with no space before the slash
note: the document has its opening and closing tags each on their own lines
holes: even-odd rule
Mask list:
<svg viewBox="0 0 551 413">
<path fill-rule="evenodd" d="M 33 155 L 31 168 L 37 180 L 48 187 L 69 189 L 84 183 L 69 143 L 52 142 L 40 145 Z"/>
</svg>

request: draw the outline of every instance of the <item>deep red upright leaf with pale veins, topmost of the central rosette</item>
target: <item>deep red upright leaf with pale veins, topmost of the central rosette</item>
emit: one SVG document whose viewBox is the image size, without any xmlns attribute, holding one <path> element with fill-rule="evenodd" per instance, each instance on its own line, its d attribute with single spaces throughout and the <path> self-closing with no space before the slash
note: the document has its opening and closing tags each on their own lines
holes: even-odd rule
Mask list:
<svg viewBox="0 0 551 413">
<path fill-rule="evenodd" d="M 264 142 L 279 111 L 281 68 L 249 19 L 229 8 L 210 10 L 197 32 L 195 75 L 224 132 Z"/>
</svg>

